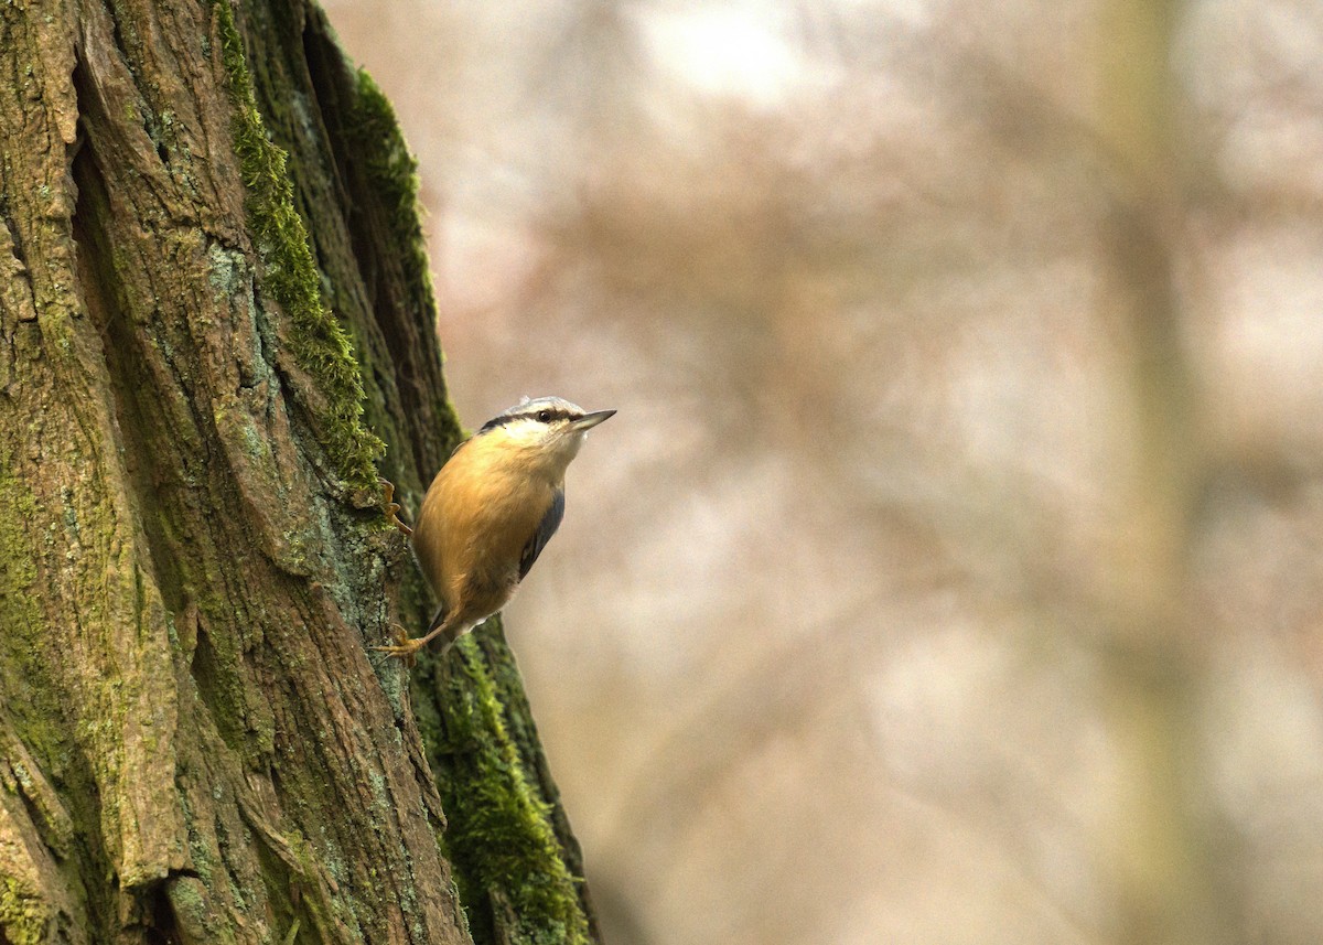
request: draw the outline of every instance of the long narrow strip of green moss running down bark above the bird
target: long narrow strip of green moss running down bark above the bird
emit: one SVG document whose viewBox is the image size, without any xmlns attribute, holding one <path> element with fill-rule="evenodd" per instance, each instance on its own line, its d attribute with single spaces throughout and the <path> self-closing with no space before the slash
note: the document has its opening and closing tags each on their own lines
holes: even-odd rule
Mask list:
<svg viewBox="0 0 1323 945">
<path fill-rule="evenodd" d="M 287 155 L 271 143 L 257 107 L 243 41 L 228 0 L 216 4 L 221 56 L 234 107 L 234 151 L 247 188 L 249 222 L 262 258 L 261 286 L 291 323 L 295 360 L 324 402 L 315 406 L 318 439 L 351 486 L 376 488 L 385 445 L 363 422 L 363 376 L 344 326 L 321 302 L 321 283 L 307 226 L 294 206 Z"/>
</svg>

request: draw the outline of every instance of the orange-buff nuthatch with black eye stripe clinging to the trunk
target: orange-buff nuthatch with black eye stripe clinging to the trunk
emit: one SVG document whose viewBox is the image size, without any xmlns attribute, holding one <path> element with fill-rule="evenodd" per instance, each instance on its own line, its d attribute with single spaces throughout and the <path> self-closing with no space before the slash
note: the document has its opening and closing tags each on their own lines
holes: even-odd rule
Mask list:
<svg viewBox="0 0 1323 945">
<path fill-rule="evenodd" d="M 505 606 L 565 516 L 565 470 L 587 431 L 614 414 L 524 397 L 455 447 L 413 528 L 418 565 L 441 606 L 422 637 L 400 630 L 394 643 L 373 650 L 411 666 L 433 639 L 445 641 L 445 654 Z M 389 495 L 386 502 L 390 515 Z"/>
</svg>

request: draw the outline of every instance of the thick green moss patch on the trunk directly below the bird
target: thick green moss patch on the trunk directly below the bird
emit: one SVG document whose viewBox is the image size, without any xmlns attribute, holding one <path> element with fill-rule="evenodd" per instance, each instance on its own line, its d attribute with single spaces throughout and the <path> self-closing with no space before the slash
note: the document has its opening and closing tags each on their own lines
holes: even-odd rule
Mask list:
<svg viewBox="0 0 1323 945">
<path fill-rule="evenodd" d="M 515 941 L 586 945 L 587 917 L 552 807 L 529 785 L 480 649 L 464 637 L 458 650 L 447 656 L 448 674 L 435 674 L 442 716 L 419 721 L 439 754 L 434 772 L 448 821 L 446 850 L 474 940 L 495 941 L 488 905 L 503 901 L 517 922 L 507 929 Z"/>
</svg>

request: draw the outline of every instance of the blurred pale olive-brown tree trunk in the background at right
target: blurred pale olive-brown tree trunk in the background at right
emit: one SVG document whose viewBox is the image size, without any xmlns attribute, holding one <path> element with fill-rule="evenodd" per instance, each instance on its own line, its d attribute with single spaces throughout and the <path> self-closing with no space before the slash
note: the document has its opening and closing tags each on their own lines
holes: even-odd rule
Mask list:
<svg viewBox="0 0 1323 945">
<path fill-rule="evenodd" d="M 1183 181 L 1171 60 L 1180 9 L 1177 0 L 1099 7 L 1098 127 L 1117 171 L 1103 299 L 1129 340 L 1136 443 L 1103 647 L 1126 829 L 1098 846 L 1118 884 L 1117 937 L 1136 945 L 1215 945 L 1234 928 L 1203 797 L 1201 641 L 1191 617 L 1207 459 L 1176 278 Z"/>
</svg>

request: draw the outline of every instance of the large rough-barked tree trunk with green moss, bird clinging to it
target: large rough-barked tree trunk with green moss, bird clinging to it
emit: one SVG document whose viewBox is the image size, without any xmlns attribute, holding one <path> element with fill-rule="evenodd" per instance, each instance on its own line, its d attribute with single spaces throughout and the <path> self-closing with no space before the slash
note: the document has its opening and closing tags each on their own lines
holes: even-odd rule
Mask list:
<svg viewBox="0 0 1323 945">
<path fill-rule="evenodd" d="M 366 650 L 459 437 L 380 91 L 298 0 L 11 0 L 0 68 L 0 941 L 595 940 L 499 626 Z"/>
</svg>

